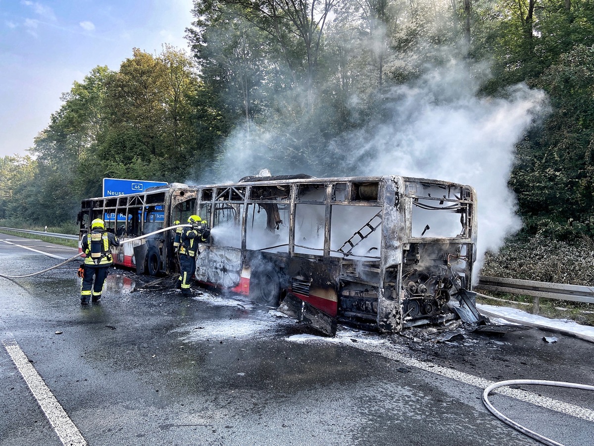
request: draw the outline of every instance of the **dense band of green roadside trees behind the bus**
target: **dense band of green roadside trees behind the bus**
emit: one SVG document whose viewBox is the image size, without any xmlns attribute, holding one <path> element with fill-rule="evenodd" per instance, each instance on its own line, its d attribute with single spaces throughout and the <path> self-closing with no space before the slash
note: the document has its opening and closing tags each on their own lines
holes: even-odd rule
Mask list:
<svg viewBox="0 0 594 446">
<path fill-rule="evenodd" d="M 594 235 L 592 2 L 194 0 L 193 12 L 190 55 L 134 49 L 117 71 L 94 68 L 30 156 L 0 159 L 1 219 L 72 222 L 103 177 L 236 180 L 233 147 L 276 174 L 346 174 L 318 162 L 328 144 L 384 119 L 394 86 L 462 58 L 490 66 L 480 95 L 548 93 L 511 172 L 525 232 Z"/>
</svg>

